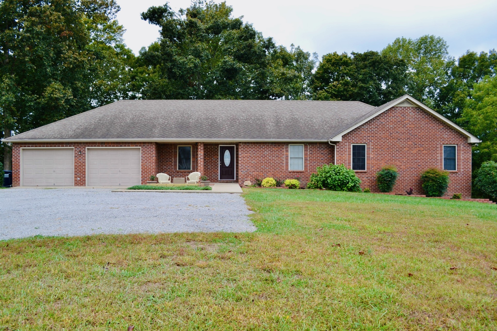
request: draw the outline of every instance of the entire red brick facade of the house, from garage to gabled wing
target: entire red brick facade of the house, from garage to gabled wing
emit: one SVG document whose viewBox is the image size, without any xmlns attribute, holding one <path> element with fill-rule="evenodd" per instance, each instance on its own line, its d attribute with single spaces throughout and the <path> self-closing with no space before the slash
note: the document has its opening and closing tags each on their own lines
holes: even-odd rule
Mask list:
<svg viewBox="0 0 497 331">
<path fill-rule="evenodd" d="M 298 142 L 295 142 L 298 143 Z M 467 137 L 443 124 L 433 116 L 415 107 L 393 107 L 369 122 L 343 135 L 336 142 L 336 163 L 351 167 L 351 144 L 367 144 L 365 171 L 357 171 L 362 188 L 378 192 L 375 175 L 384 165 L 395 165 L 399 179 L 395 193 L 404 193 L 410 187 L 415 194 L 422 194 L 420 174 L 429 167 L 443 167 L 443 145 L 457 145 L 457 171 L 450 173 L 447 195 L 462 193 L 471 197 L 471 144 Z M 236 182 L 243 184 L 255 178 L 274 177 L 280 180 L 299 177 L 305 185 L 316 167 L 334 162 L 334 146 L 327 142 L 304 145 L 304 170 L 289 170 L 289 143 L 239 142 L 239 143 L 156 143 L 156 142 L 75 142 L 75 143 L 13 143 L 13 185 L 20 185 L 21 147 L 74 147 L 76 186 L 85 185 L 86 147 L 140 147 L 142 184 L 150 175 L 159 172 L 171 177 L 186 177 L 199 171 L 211 182 L 219 180 L 219 145 L 235 145 Z M 177 146 L 191 146 L 191 170 L 177 169 Z"/>
</svg>

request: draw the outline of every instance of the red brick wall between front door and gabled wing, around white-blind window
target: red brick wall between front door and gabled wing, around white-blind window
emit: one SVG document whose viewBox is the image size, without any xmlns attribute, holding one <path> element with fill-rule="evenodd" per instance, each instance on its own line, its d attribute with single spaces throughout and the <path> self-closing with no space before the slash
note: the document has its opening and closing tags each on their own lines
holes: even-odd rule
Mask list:
<svg viewBox="0 0 497 331">
<path fill-rule="evenodd" d="M 334 147 L 327 142 L 304 144 L 304 170 L 288 169 L 288 143 L 285 142 L 240 142 L 239 183 L 255 178 L 273 177 L 279 180 L 300 177 L 305 185 L 316 168 L 333 163 Z"/>
</svg>

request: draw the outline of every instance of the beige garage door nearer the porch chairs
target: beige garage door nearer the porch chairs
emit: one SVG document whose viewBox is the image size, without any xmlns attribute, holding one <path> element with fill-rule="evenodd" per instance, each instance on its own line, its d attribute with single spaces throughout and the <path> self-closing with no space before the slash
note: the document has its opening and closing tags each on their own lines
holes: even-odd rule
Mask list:
<svg viewBox="0 0 497 331">
<path fill-rule="evenodd" d="M 86 186 L 141 184 L 140 148 L 88 148 Z"/>
</svg>

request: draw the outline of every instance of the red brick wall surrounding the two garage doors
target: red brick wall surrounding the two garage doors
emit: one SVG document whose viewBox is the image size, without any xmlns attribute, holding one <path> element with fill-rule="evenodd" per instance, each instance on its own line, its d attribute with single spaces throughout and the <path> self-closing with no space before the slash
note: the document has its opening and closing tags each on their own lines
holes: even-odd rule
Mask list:
<svg viewBox="0 0 497 331">
<path fill-rule="evenodd" d="M 74 147 L 74 185 L 86 185 L 86 147 L 141 147 L 142 184 L 150 175 L 157 174 L 159 167 L 158 148 L 155 142 L 64 142 L 64 143 L 13 143 L 12 186 L 20 185 L 21 147 Z"/>
</svg>

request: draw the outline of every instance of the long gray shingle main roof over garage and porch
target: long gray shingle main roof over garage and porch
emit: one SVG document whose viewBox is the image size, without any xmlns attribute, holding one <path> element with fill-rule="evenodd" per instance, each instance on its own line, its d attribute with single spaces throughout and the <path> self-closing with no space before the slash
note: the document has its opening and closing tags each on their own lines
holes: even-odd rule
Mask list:
<svg viewBox="0 0 497 331">
<path fill-rule="evenodd" d="M 324 141 L 374 109 L 358 101 L 121 100 L 6 141 Z"/>
</svg>

